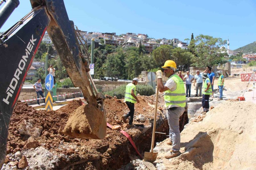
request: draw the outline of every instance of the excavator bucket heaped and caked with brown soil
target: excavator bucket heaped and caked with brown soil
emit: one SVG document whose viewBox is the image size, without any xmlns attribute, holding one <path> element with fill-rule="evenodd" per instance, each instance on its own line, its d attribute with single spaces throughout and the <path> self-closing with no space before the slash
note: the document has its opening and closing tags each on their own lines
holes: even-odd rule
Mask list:
<svg viewBox="0 0 256 170">
<path fill-rule="evenodd" d="M 82 139 L 103 139 L 106 130 L 106 111 L 88 104 L 80 106 L 69 116 L 63 133 Z"/>
</svg>

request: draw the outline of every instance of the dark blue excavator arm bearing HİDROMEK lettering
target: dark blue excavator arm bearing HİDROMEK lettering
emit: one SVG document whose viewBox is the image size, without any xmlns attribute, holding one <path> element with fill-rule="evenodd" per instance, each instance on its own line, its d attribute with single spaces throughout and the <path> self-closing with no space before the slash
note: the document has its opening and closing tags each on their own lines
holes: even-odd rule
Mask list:
<svg viewBox="0 0 256 170">
<path fill-rule="evenodd" d="M 99 112 L 105 112 L 104 97 L 101 94 L 95 95 L 90 85 L 92 81 L 88 73 L 88 59 L 81 52 L 74 24 L 68 18 L 63 0 L 30 2 L 32 11 L 0 36 L 0 167 L 6 155 L 8 128 L 13 109 L 46 31 L 74 86 L 80 88 L 88 105 L 96 107 Z M 104 138 L 106 114 L 104 116 L 100 126 L 103 133 L 95 132 L 88 138 Z"/>
</svg>

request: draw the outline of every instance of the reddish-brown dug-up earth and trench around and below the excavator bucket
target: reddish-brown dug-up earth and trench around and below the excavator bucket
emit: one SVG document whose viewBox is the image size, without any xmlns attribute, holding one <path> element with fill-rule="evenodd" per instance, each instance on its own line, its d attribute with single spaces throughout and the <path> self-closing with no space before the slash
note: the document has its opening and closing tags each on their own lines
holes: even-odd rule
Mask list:
<svg viewBox="0 0 256 170">
<path fill-rule="evenodd" d="M 152 122 L 155 96 L 140 96 L 140 105 L 135 105 L 135 124 L 138 126 L 132 128 L 122 128 L 132 137 L 137 149 L 143 156 L 144 152 L 149 152 L 152 137 Z M 163 97 L 159 96 L 156 131 L 169 133 L 166 114 L 163 113 Z M 198 101 L 198 99 L 197 99 Z M 9 126 L 9 137 L 7 145 L 7 154 L 14 155 L 20 151 L 22 155 L 28 158 L 30 169 L 119 169 L 126 165 L 132 159 L 140 157 L 135 152 L 133 146 L 127 138 L 119 131 L 107 129 L 106 137 L 103 140 L 84 140 L 74 139 L 61 133 L 69 114 L 81 105 L 80 101 L 72 101 L 58 111 L 46 112 L 36 111 L 26 104 L 17 103 Z M 151 106 L 150 106 L 151 105 Z M 122 125 L 121 115 L 127 111 L 125 103 L 119 99 L 107 99 L 105 102 L 107 111 L 107 122 L 112 125 Z M 145 113 L 146 111 L 146 113 Z M 144 114 L 146 121 L 136 123 L 136 116 Z M 18 133 L 19 126 L 24 121 L 32 119 L 35 126 L 42 127 L 40 137 L 33 139 L 38 145 L 33 149 L 28 145 L 31 140 L 28 135 Z M 33 122 L 32 121 L 32 122 Z M 180 118 L 180 131 L 188 123 L 187 109 Z M 142 126 L 142 127 L 141 127 Z M 168 136 L 156 134 L 156 142 L 163 141 Z M 39 152 L 40 151 L 40 152 Z M 48 157 L 46 156 L 48 154 Z M 49 157 L 49 154 L 52 156 Z M 9 157 L 10 157 L 9 156 Z M 10 162 L 18 160 L 9 160 L 6 162 L 6 169 L 11 168 Z M 36 163 L 39 162 L 39 163 Z M 43 162 L 40 164 L 40 162 Z M 17 165 L 18 167 L 18 165 Z"/>
</svg>

